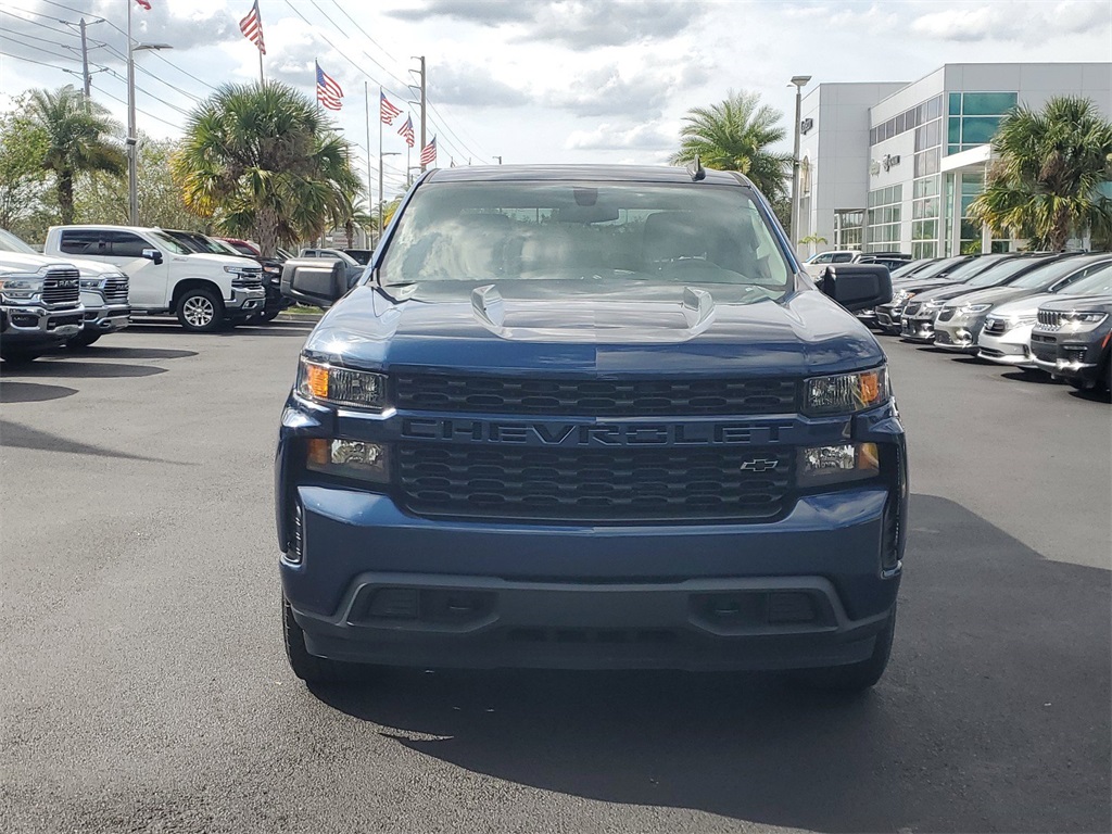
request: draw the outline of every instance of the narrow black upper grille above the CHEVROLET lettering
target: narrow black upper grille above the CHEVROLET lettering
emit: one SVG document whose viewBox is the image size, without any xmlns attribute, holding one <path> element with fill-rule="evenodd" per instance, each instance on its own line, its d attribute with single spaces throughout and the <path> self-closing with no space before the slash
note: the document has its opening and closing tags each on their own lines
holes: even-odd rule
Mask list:
<svg viewBox="0 0 1112 834">
<path fill-rule="evenodd" d="M 398 408 L 582 417 L 794 414 L 792 379 L 517 379 L 396 376 Z"/>
</svg>

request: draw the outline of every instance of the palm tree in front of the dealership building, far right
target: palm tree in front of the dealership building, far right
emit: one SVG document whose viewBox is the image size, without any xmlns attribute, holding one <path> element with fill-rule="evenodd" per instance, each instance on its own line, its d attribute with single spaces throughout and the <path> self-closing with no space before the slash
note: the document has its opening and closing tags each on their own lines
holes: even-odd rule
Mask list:
<svg viewBox="0 0 1112 834">
<path fill-rule="evenodd" d="M 1042 110 L 1012 110 L 992 141 L 997 160 L 970 217 L 997 234 L 1060 251 L 1071 235 L 1112 230 L 1112 122 L 1089 99 L 1061 96 Z"/>
</svg>

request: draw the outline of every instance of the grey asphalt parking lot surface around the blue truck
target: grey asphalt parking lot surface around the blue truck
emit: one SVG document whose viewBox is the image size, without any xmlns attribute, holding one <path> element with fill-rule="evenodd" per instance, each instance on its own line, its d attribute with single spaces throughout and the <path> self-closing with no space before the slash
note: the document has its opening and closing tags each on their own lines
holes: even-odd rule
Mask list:
<svg viewBox="0 0 1112 834">
<path fill-rule="evenodd" d="M 887 675 L 306 688 L 271 458 L 308 326 L 3 367 L 2 832 L 1112 830 L 1112 408 L 883 341 L 912 533 Z"/>
</svg>

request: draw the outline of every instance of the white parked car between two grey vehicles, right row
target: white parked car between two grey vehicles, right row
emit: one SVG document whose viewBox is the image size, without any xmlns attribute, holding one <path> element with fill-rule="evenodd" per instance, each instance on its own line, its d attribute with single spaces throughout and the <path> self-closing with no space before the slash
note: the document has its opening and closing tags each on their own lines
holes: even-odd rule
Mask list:
<svg viewBox="0 0 1112 834">
<path fill-rule="evenodd" d="M 1100 296 L 1112 294 L 1112 255 L 1079 258 L 1073 265 L 1080 275 L 1064 289 L 1024 296 L 993 307 L 977 337 L 977 356 L 1001 365 L 1034 368 L 1031 354 L 1031 330 L 1039 318 L 1039 307 L 1063 296 Z"/>
</svg>

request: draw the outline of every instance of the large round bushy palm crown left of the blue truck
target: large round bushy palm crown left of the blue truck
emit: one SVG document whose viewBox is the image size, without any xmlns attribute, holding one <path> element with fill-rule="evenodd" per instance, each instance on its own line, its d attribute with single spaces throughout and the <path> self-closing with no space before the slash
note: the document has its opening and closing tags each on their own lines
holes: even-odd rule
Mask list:
<svg viewBox="0 0 1112 834">
<path fill-rule="evenodd" d="M 349 155 L 312 101 L 267 81 L 201 102 L 170 165 L 190 210 L 272 256 L 348 220 L 360 190 Z"/>
</svg>

